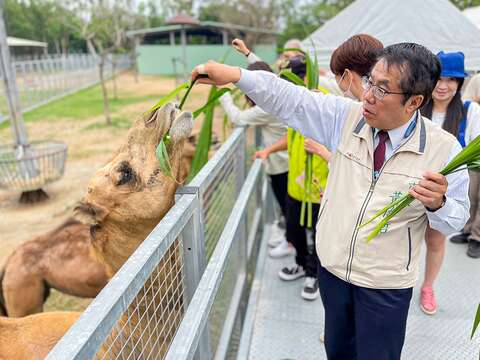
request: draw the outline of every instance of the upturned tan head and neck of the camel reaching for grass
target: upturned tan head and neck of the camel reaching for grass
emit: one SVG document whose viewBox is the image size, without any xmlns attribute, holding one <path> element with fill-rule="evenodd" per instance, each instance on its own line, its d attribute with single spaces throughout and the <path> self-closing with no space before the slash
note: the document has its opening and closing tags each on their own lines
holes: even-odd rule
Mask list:
<svg viewBox="0 0 480 360">
<path fill-rule="evenodd" d="M 174 202 L 185 140 L 193 117 L 168 103 L 139 118 L 113 159 L 98 170 L 76 217 L 90 225 L 94 253 L 116 272 Z M 171 175 L 159 167 L 156 148 L 169 134 Z"/>
</svg>

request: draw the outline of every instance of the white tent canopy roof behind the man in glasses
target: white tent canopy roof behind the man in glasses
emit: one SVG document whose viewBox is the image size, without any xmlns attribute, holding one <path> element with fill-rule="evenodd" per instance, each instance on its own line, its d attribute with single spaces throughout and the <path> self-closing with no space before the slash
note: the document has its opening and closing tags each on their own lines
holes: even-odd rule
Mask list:
<svg viewBox="0 0 480 360">
<path fill-rule="evenodd" d="M 480 29 L 448 0 L 357 0 L 302 45 L 311 52 L 315 48 L 320 65 L 328 66 L 332 52 L 361 33 L 375 36 L 384 46 L 415 42 L 433 53 L 462 51 L 466 68 L 480 70 Z"/>
</svg>

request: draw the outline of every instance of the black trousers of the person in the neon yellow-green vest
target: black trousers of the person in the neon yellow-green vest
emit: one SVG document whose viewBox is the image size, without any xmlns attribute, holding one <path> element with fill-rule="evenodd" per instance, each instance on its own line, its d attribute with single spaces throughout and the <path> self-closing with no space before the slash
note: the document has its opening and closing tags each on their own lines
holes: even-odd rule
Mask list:
<svg viewBox="0 0 480 360">
<path fill-rule="evenodd" d="M 312 204 L 312 232 L 315 243 L 315 227 L 317 225 L 318 210 L 320 205 Z M 287 241 L 293 245 L 297 252 L 295 261 L 305 270 L 305 275 L 310 277 L 317 276 L 318 256 L 315 246 L 309 251 L 307 245 L 307 211 L 305 211 L 305 226 L 300 225 L 300 212 L 302 202 L 295 200 L 287 194 Z"/>
</svg>

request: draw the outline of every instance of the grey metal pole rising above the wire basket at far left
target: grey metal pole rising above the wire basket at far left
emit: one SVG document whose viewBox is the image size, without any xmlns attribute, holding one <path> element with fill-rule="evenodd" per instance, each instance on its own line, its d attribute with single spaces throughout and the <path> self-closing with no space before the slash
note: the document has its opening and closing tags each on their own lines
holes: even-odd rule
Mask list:
<svg viewBox="0 0 480 360">
<path fill-rule="evenodd" d="M 3 20 L 4 0 L 0 0 L 0 66 L 3 73 L 3 82 L 5 84 L 5 93 L 10 110 L 10 121 L 12 123 L 12 132 L 17 145 L 27 146 L 27 130 L 23 123 L 22 110 L 20 107 L 20 96 L 17 89 L 17 79 L 15 71 L 12 69 L 10 50 L 7 44 L 7 32 Z"/>
</svg>

